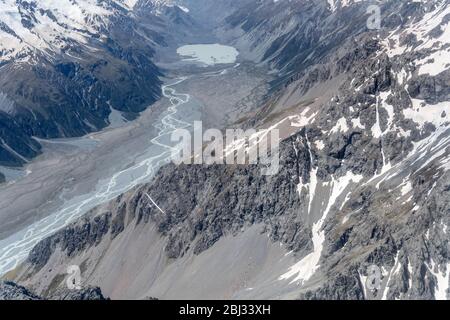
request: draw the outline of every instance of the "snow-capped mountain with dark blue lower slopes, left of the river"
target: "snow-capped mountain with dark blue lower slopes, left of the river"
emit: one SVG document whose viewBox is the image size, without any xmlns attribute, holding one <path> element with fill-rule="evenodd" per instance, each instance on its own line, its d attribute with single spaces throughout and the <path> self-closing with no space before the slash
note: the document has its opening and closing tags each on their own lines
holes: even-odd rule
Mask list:
<svg viewBox="0 0 450 320">
<path fill-rule="evenodd" d="M 84 135 L 106 127 L 111 108 L 134 118 L 152 104 L 155 48 L 169 26 L 186 28 L 183 13 L 171 1 L 1 0 L 0 165 L 39 154 L 33 136 Z"/>
</svg>

